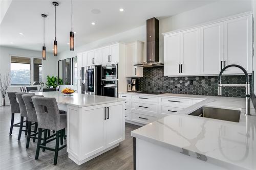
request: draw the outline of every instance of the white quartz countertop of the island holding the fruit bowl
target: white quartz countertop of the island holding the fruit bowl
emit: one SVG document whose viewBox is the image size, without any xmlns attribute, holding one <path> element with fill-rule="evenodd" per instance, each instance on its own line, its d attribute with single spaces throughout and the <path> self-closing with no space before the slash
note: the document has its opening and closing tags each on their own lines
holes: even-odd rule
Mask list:
<svg viewBox="0 0 256 170">
<path fill-rule="evenodd" d="M 55 98 L 57 103 L 66 104 L 75 107 L 86 107 L 101 105 L 106 103 L 122 102 L 124 99 L 110 98 L 100 95 L 78 94 L 73 93 L 73 96 L 63 96 L 59 91 L 54 92 L 36 92 L 36 94 L 44 95 L 46 98 Z"/>
</svg>

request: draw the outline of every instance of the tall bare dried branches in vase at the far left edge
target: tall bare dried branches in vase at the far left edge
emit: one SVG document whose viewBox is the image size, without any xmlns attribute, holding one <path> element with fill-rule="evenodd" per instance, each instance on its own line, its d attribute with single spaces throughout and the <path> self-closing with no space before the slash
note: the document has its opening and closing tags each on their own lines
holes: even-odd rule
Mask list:
<svg viewBox="0 0 256 170">
<path fill-rule="evenodd" d="M 5 106 L 5 96 L 7 92 L 7 88 L 10 85 L 11 76 L 10 72 L 6 73 L 4 77 L 0 74 L 0 92 L 2 96 L 2 106 Z"/>
</svg>

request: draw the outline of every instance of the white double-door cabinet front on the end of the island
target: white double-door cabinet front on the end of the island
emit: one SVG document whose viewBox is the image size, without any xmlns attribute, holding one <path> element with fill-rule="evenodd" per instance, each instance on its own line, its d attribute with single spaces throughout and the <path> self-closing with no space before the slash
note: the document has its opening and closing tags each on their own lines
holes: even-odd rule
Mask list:
<svg viewBox="0 0 256 170">
<path fill-rule="evenodd" d="M 123 104 L 110 103 L 81 110 L 81 159 L 124 140 Z"/>
</svg>

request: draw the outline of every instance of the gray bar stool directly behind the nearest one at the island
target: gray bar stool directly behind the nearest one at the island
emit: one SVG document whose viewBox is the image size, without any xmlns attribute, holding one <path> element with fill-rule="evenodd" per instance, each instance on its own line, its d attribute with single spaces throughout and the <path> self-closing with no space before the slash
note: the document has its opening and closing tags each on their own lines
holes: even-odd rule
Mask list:
<svg viewBox="0 0 256 170">
<path fill-rule="evenodd" d="M 32 99 L 31 99 L 32 96 L 44 97 L 44 95 L 34 95 L 34 94 L 26 94 L 26 93 L 22 95 L 22 98 L 23 98 L 23 101 L 25 103 L 27 113 L 28 113 L 28 117 L 27 117 L 27 119 L 28 119 L 28 135 L 27 135 L 27 142 L 26 142 L 27 149 L 29 148 L 30 139 L 32 138 L 33 142 L 35 142 L 35 139 L 37 139 L 36 135 L 38 134 L 38 132 L 37 132 L 37 125 L 38 125 L 37 124 L 37 116 L 36 116 L 36 112 L 35 112 L 35 107 L 33 105 Z M 35 123 L 34 131 L 31 130 L 32 122 Z M 33 134 L 31 134 L 31 132 L 33 132 Z"/>
</svg>

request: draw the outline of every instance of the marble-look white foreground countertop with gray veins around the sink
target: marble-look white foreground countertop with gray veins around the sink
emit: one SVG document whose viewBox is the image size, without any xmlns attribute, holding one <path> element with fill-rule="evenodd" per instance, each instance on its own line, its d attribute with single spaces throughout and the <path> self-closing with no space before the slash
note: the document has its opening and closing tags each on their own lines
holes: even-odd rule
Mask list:
<svg viewBox="0 0 256 170">
<path fill-rule="evenodd" d="M 188 115 L 202 106 L 241 110 L 240 122 Z M 131 135 L 229 169 L 256 169 L 256 114 L 252 102 L 250 112 L 252 115 L 244 115 L 245 99 L 207 96 Z"/>
</svg>

